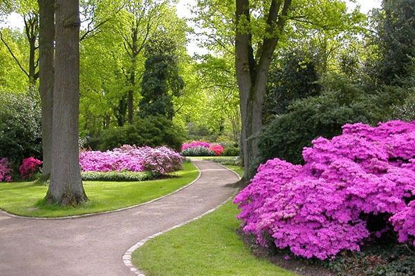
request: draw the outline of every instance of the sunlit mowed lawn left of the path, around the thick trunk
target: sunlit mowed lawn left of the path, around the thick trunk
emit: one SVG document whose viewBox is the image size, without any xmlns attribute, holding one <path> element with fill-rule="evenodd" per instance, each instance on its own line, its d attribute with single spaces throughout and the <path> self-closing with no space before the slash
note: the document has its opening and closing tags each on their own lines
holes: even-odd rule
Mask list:
<svg viewBox="0 0 415 276">
<path fill-rule="evenodd" d="M 185 163 L 183 170 L 167 178 L 139 182 L 84 181 L 90 201 L 76 208 L 49 205 L 44 202 L 47 186 L 33 182 L 0 183 L 0 208 L 16 215 L 28 217 L 65 217 L 99 213 L 141 204 L 172 193 L 194 181 L 199 170 Z"/>
</svg>

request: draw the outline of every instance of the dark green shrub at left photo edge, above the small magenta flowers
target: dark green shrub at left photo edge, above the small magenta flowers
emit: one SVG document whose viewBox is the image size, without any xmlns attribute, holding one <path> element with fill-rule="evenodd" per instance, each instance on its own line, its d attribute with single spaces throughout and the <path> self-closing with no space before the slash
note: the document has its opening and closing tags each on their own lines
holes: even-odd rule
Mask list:
<svg viewBox="0 0 415 276">
<path fill-rule="evenodd" d="M 18 167 L 32 156 L 42 159 L 39 106 L 27 95 L 0 92 L 0 157 Z"/>
</svg>

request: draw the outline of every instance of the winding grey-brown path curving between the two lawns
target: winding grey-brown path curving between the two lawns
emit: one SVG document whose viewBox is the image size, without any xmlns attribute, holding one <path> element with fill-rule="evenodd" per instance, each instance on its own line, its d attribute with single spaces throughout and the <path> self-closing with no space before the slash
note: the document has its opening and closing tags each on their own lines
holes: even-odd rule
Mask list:
<svg viewBox="0 0 415 276">
<path fill-rule="evenodd" d="M 116 213 L 75 219 L 23 219 L 0 213 L 1 276 L 136 275 L 122 255 L 141 239 L 218 206 L 235 191 L 234 172 L 193 161 L 201 177 L 191 186 Z"/>
</svg>

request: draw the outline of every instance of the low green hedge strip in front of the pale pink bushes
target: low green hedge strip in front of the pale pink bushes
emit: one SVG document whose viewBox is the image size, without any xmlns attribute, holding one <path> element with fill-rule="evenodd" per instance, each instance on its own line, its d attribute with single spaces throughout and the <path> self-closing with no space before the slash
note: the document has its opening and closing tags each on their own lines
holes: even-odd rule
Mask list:
<svg viewBox="0 0 415 276">
<path fill-rule="evenodd" d="M 84 181 L 147 181 L 154 180 L 156 175 L 151 172 L 82 172 Z"/>
</svg>

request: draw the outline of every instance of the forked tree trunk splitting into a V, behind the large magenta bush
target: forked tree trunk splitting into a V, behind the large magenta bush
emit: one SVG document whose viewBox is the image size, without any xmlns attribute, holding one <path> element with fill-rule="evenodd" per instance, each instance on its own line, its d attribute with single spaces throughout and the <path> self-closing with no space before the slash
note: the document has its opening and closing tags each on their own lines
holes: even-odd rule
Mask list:
<svg viewBox="0 0 415 276">
<path fill-rule="evenodd" d="M 256 55 L 252 48 L 249 0 L 237 0 L 236 5 L 235 65 L 241 109 L 243 179 L 248 181 L 255 173 L 251 167 L 256 163 L 255 159 L 258 155 L 258 135 L 262 129 L 262 110 L 268 71 L 279 36 L 286 24 L 291 0 L 271 1 L 266 21 L 267 34 L 259 45 Z"/>
</svg>

